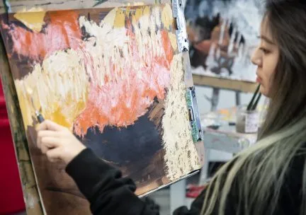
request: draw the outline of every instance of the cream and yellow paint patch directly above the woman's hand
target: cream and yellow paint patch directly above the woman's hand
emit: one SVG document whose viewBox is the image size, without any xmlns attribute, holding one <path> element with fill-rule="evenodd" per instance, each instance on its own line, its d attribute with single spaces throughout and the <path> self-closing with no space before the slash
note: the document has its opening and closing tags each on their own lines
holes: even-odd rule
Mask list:
<svg viewBox="0 0 306 215">
<path fill-rule="evenodd" d="M 41 66 L 36 64 L 32 73 L 15 85 L 26 128 L 33 124 L 33 105 L 26 88 L 33 90 L 33 103 L 42 115 L 71 128 L 84 109 L 89 77 L 77 52 L 67 50 L 52 54 Z"/>
</svg>

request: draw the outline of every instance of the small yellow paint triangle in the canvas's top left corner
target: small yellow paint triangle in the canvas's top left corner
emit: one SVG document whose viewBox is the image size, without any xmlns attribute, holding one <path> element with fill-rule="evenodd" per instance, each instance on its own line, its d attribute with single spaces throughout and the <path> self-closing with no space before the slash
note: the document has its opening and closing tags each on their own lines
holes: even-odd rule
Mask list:
<svg viewBox="0 0 306 215">
<path fill-rule="evenodd" d="M 35 32 L 40 32 L 40 30 L 42 30 L 42 25 L 45 24 L 45 11 L 15 13 L 13 16 Z"/>
</svg>

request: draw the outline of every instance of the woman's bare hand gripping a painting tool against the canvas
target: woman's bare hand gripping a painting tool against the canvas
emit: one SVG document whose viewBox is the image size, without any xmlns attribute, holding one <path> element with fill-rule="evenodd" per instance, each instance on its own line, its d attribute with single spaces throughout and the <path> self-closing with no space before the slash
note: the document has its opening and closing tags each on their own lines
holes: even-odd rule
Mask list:
<svg viewBox="0 0 306 215">
<path fill-rule="evenodd" d="M 86 147 L 60 124 L 45 120 L 39 125 L 37 145 L 51 162 L 64 161 L 68 164 Z"/>
</svg>

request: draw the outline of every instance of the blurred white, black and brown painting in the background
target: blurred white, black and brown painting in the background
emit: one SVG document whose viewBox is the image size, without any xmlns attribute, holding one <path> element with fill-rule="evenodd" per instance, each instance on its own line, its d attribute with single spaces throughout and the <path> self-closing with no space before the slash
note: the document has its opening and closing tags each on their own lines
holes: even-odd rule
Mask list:
<svg viewBox="0 0 306 215">
<path fill-rule="evenodd" d="M 261 4 L 256 0 L 186 0 L 194 74 L 256 81 L 250 57 L 259 43 Z"/>
</svg>

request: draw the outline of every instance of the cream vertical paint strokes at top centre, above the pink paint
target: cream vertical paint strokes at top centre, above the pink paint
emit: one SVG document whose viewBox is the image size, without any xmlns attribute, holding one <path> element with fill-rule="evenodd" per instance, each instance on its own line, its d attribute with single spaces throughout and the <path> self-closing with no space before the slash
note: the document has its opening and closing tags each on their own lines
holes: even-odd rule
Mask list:
<svg viewBox="0 0 306 215">
<path fill-rule="evenodd" d="M 135 30 L 137 40 L 137 51 L 140 57 L 144 59 L 153 59 L 154 57 L 163 57 L 164 51 L 162 49 L 162 35 L 159 30 L 162 23 L 159 19 L 159 8 L 152 8 L 152 16 L 150 16 L 150 7 L 145 7 L 144 10 L 137 9 L 139 11 L 138 22 L 133 19 L 132 26 Z M 137 13 L 137 12 L 136 12 Z M 108 15 L 101 21 L 99 25 L 93 21 L 88 21 L 84 16 L 79 18 L 80 27 L 84 27 L 86 32 L 91 35 L 91 40 L 86 42 L 84 58 L 91 59 L 91 67 L 86 67 L 87 73 L 92 75 L 96 74 L 94 70 L 98 68 L 100 64 L 106 66 L 106 70 L 98 70 L 98 79 L 92 79 L 95 84 L 100 86 L 104 85 L 104 74 L 112 75 L 114 79 L 124 78 L 128 81 L 128 73 L 124 73 L 127 67 L 132 67 L 138 70 L 139 76 L 141 76 L 141 66 L 135 62 L 127 60 L 132 59 L 130 51 L 128 50 L 128 43 L 130 42 L 128 35 L 126 35 L 125 28 L 113 28 L 115 21 L 118 20 L 118 8 L 113 9 Z M 148 31 L 149 29 L 149 31 Z M 149 32 L 151 33 L 149 35 Z M 155 33 L 157 32 L 157 33 Z M 169 34 L 171 45 L 176 50 L 176 38 L 174 34 Z M 95 44 L 95 45 L 94 45 Z M 111 52 L 110 52 L 111 51 Z M 150 54 L 151 57 L 145 58 L 145 54 Z M 108 61 L 116 62 L 116 69 L 112 69 L 108 64 Z M 151 64 L 151 62 L 143 62 L 144 64 Z M 162 72 L 161 72 L 162 74 Z"/>
</svg>

